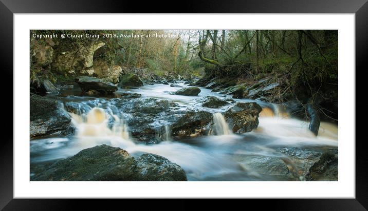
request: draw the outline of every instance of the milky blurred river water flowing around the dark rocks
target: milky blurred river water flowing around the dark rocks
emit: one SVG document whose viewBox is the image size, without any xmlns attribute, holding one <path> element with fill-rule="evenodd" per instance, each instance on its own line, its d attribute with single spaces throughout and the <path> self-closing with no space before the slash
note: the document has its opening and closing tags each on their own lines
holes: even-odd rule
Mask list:
<svg viewBox="0 0 368 211">
<path fill-rule="evenodd" d="M 180 86 L 186 85 L 180 83 Z M 48 165 L 99 144 L 121 147 L 133 156 L 142 153 L 163 156 L 180 165 L 190 181 L 299 181 L 324 151 L 337 152 L 337 125 L 321 122 L 316 137 L 308 130 L 308 122 L 290 118 L 276 104 L 257 101 L 263 107 L 258 128 L 233 134 L 221 114 L 223 110 L 202 108 L 197 102 L 205 96 L 225 98 L 224 95 L 204 88 L 196 97 L 170 94 L 178 89 L 168 85 L 145 85 L 141 89 L 119 89 L 115 96 L 105 98 L 78 96 L 78 91 L 50 96 L 63 103 L 79 103 L 77 114 L 69 113 L 77 131 L 72 136 L 31 140 L 31 176 L 40 171 L 43 164 Z M 160 141 L 157 144 L 137 143 L 127 124 L 127 119 L 134 113 L 125 114 L 111 102 L 111 98 L 119 97 L 122 92 L 173 101 L 179 104 L 179 110 L 210 111 L 215 135 L 175 139 L 171 137 L 170 124 L 157 120 L 155 124 L 162 126 L 162 132 L 156 134 Z"/>
</svg>

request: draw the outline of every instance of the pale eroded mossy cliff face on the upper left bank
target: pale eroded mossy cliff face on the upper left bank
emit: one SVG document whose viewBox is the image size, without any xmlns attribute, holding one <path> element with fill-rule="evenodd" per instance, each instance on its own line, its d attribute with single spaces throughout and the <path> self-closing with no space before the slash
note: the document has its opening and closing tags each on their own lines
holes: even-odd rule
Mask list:
<svg viewBox="0 0 368 211">
<path fill-rule="evenodd" d="M 115 48 L 107 47 L 107 42 L 108 40 L 98 39 L 67 40 L 31 37 L 32 68 L 47 71 L 56 76 L 69 78 L 95 76 L 117 83 L 122 69 L 120 64 L 116 64 L 117 62 L 106 56 L 115 54 L 116 51 Z M 41 77 L 42 71 L 37 73 Z"/>
</svg>

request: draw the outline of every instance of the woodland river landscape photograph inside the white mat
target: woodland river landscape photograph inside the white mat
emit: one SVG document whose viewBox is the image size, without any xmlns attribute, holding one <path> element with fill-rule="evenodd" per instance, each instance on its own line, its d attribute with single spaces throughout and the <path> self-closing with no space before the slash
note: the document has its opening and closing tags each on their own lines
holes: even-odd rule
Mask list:
<svg viewBox="0 0 368 211">
<path fill-rule="evenodd" d="M 338 181 L 338 30 L 29 30 L 30 181 Z"/>
</svg>

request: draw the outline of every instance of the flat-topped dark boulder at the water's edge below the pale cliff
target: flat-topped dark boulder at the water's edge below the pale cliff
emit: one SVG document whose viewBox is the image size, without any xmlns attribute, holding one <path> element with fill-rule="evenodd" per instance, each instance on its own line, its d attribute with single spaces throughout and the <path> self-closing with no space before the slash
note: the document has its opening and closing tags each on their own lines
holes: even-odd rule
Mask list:
<svg viewBox="0 0 368 211">
<path fill-rule="evenodd" d="M 82 91 L 87 92 L 89 90 L 97 90 L 99 92 L 115 92 L 118 87 L 113 83 L 104 79 L 81 76 L 76 78 L 76 82 L 81 87 Z"/>
</svg>

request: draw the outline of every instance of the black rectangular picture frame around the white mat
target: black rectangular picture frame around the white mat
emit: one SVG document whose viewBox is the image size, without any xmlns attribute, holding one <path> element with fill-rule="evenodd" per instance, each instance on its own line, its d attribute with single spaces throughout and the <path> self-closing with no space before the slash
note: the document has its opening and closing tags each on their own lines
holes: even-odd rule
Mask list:
<svg viewBox="0 0 368 211">
<path fill-rule="evenodd" d="M 13 199 L 13 135 L 9 133 L 10 124 L 9 110 L 13 113 L 13 13 L 121 13 L 121 12 L 164 12 L 163 4 L 168 4 L 166 9 L 170 12 L 195 12 L 195 13 L 355 13 L 355 33 L 356 33 L 356 74 L 364 69 L 365 60 L 368 58 L 368 3 L 367 0 L 251 0 L 251 1 L 191 1 L 180 2 L 181 5 L 176 6 L 172 1 L 48 1 L 48 0 L 0 0 L 0 60 L 2 74 L 1 78 L 8 82 L 5 92 L 3 92 L 9 114 L 5 122 L 6 133 L 3 133 L 3 139 L 0 143 L 0 208 L 4 210 L 53 210 L 53 209 L 71 209 L 76 208 L 71 205 L 71 201 L 67 199 Z M 353 73 L 352 73 L 353 74 Z M 358 80 L 362 78 L 356 77 L 356 85 L 364 84 Z M 3 84 L 4 86 L 4 84 Z M 5 87 L 5 86 L 4 86 Z M 356 88 L 356 96 L 362 94 L 365 89 Z M 3 101 L 4 103 L 5 101 Z M 10 103 L 11 102 L 11 103 Z M 11 106 L 10 106 L 11 104 Z M 366 106 L 366 103 L 357 103 L 356 106 Z M 359 115 L 360 118 L 366 116 Z M 11 120 L 13 122 L 13 120 Z M 3 122 L 4 123 L 4 122 Z M 364 131 L 364 125 L 357 124 L 357 134 Z M 360 132 L 361 133 L 361 132 Z M 255 203 L 257 208 L 271 207 L 273 209 L 283 210 L 366 210 L 368 208 L 368 182 L 366 182 L 366 167 L 368 163 L 365 146 L 365 139 L 357 139 L 356 141 L 356 197 L 355 199 L 268 199 L 269 202 L 260 200 L 252 200 L 246 203 Z M 355 140 L 344 140 L 355 141 Z M 88 200 L 89 206 L 97 208 L 98 200 Z M 107 202 L 107 203 L 111 203 Z M 135 200 L 132 203 L 141 206 L 150 205 L 151 202 L 144 200 Z M 163 202 L 157 202 L 160 204 Z M 180 200 L 175 200 L 176 209 L 191 208 L 190 204 Z M 217 206 L 218 200 L 211 202 L 212 206 Z M 82 203 L 85 204 L 85 201 Z M 104 202 L 103 204 L 106 204 Z M 231 207 L 231 205 L 228 205 Z M 143 207 L 142 207 L 143 208 Z M 170 207 L 169 207 L 170 208 Z M 200 208 L 200 207 L 197 207 Z"/>
</svg>

